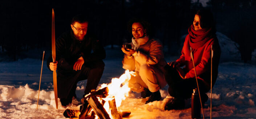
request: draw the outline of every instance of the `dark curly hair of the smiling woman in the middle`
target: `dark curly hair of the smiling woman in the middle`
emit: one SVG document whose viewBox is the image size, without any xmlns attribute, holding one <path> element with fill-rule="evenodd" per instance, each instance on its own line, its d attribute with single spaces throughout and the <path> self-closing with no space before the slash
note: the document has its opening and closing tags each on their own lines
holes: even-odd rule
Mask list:
<svg viewBox="0 0 256 119">
<path fill-rule="evenodd" d="M 133 23 L 141 23 L 143 28 L 147 30 L 146 31 L 147 35 L 149 35 L 149 36 L 153 35 L 152 30 L 151 30 L 151 24 L 148 21 L 140 19 L 140 18 L 133 18 L 128 22 L 127 30 L 129 31 L 129 33 L 131 33 L 131 30 L 132 30 L 131 27 L 133 26 Z"/>
</svg>

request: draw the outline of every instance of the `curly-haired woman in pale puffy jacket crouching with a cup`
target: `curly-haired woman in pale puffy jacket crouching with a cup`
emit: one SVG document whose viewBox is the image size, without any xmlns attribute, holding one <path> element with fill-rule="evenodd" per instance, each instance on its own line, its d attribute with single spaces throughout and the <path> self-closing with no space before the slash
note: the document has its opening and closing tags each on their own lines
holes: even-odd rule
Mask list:
<svg viewBox="0 0 256 119">
<path fill-rule="evenodd" d="M 163 45 L 158 39 L 150 37 L 149 24 L 143 20 L 131 22 L 132 42 L 131 48 L 122 47 L 125 56 L 123 68 L 135 70 L 135 76 L 129 80 L 131 90 L 141 93 L 142 98 L 149 96 L 148 101 L 161 100 L 159 89 L 166 85 L 164 80 Z"/>
</svg>

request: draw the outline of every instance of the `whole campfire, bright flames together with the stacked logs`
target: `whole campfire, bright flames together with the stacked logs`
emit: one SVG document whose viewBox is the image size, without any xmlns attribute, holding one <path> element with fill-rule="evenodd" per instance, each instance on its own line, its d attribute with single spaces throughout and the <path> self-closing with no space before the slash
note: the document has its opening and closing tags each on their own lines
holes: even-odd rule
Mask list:
<svg viewBox="0 0 256 119">
<path fill-rule="evenodd" d="M 81 99 L 80 110 L 69 110 L 64 112 L 68 118 L 79 119 L 122 119 L 130 115 L 130 111 L 121 111 L 122 101 L 128 97 L 130 88 L 128 81 L 135 72 L 125 73 L 119 78 L 112 78 L 110 84 L 102 84 L 98 90 L 92 90 Z"/>
</svg>

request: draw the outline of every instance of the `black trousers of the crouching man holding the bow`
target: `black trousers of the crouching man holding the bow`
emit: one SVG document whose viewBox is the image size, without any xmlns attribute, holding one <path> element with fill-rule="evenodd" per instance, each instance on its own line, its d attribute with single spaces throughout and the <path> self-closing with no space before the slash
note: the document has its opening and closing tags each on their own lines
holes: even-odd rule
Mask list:
<svg viewBox="0 0 256 119">
<path fill-rule="evenodd" d="M 72 102 L 73 96 L 76 97 L 77 82 L 86 80 L 87 84 L 84 93 L 88 94 L 96 89 L 102 76 L 105 64 L 102 60 L 92 61 L 82 65 L 81 70 L 73 70 L 73 65 L 64 59 L 58 61 L 57 88 L 58 98 L 61 105 L 66 106 Z"/>
</svg>

